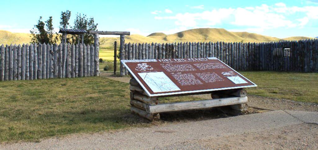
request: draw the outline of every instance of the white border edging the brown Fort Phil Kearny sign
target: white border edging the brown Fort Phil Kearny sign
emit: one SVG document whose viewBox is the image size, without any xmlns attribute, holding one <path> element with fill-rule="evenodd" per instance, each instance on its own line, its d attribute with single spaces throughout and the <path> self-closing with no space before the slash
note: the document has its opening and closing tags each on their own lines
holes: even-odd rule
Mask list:
<svg viewBox="0 0 318 150">
<path fill-rule="evenodd" d="M 185 58 L 187 59 L 187 58 Z M 207 59 L 217 59 L 219 60 L 217 57 L 207 57 Z M 137 60 L 138 61 L 138 60 Z M 150 59 L 150 61 L 145 61 L 145 60 L 139 60 L 140 62 L 157 62 L 156 59 Z M 139 62 L 138 61 L 138 62 Z M 226 63 L 222 62 L 221 60 L 219 60 L 221 63 L 225 64 L 227 67 L 229 67 L 230 69 L 232 69 L 230 66 L 228 66 Z M 141 85 L 141 87 L 143 88 L 143 90 L 145 90 L 145 92 L 147 93 L 147 95 L 149 97 L 156 97 L 156 96 L 166 96 L 166 95 L 177 95 L 177 94 L 187 94 L 187 93 L 201 93 L 201 92 L 210 92 L 210 91 L 219 91 L 219 90 L 228 90 L 228 89 L 236 89 L 236 88 L 245 88 L 245 87 L 257 87 L 257 85 L 255 83 L 253 83 L 252 81 L 248 80 L 247 78 L 245 78 L 245 76 L 241 75 L 240 73 L 238 73 L 236 70 L 232 69 L 233 71 L 235 71 L 237 74 L 239 74 L 240 76 L 242 76 L 244 79 L 246 79 L 247 81 L 251 82 L 254 85 L 250 85 L 250 86 L 240 86 L 240 87 L 225 87 L 225 88 L 215 88 L 215 89 L 205 89 L 205 90 L 196 90 L 196 91 L 183 91 L 183 92 L 172 92 L 172 93 L 160 93 L 160 94 L 150 94 L 149 91 L 147 90 L 147 88 L 141 83 L 141 81 L 139 81 L 139 79 L 137 78 L 137 76 L 129 69 L 129 67 L 126 65 L 126 63 L 129 62 L 136 62 L 136 60 L 121 60 L 121 63 L 125 66 L 125 68 L 130 72 L 130 74 L 137 80 L 137 82 Z"/>
</svg>

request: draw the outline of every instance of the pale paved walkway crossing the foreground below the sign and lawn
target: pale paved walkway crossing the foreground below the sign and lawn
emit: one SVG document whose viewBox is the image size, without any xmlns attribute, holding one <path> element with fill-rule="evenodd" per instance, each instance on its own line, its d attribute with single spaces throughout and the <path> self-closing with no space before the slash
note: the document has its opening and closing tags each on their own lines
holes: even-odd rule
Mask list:
<svg viewBox="0 0 318 150">
<path fill-rule="evenodd" d="M 305 123 L 318 124 L 318 112 L 268 111 L 221 119 L 160 125 L 151 128 L 135 128 L 114 133 L 105 132 L 69 135 L 64 138 L 44 139 L 38 143 L 25 142 L 0 145 L 0 149 L 167 148 L 173 147 L 176 143 L 237 135 L 266 129 L 279 129 Z"/>
</svg>

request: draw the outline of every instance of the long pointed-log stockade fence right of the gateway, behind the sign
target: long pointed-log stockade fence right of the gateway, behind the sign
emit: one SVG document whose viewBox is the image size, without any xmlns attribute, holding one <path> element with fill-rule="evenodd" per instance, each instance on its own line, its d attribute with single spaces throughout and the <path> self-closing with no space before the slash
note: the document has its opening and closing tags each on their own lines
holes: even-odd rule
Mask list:
<svg viewBox="0 0 318 150">
<path fill-rule="evenodd" d="M 318 72 L 318 39 L 267 43 L 129 43 L 122 60 L 217 57 L 235 70 Z M 121 66 L 121 76 L 127 75 Z"/>
</svg>

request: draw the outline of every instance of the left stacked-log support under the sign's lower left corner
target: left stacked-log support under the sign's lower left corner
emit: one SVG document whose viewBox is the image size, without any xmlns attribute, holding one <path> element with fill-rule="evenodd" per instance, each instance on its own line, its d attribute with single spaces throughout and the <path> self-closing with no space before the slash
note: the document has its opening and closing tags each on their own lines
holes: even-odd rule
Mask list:
<svg viewBox="0 0 318 150">
<path fill-rule="evenodd" d="M 159 113 L 149 113 L 150 105 L 157 105 L 157 97 L 149 97 L 142 89 L 139 83 L 134 79 L 130 79 L 130 111 L 150 121 L 160 119 Z"/>
</svg>

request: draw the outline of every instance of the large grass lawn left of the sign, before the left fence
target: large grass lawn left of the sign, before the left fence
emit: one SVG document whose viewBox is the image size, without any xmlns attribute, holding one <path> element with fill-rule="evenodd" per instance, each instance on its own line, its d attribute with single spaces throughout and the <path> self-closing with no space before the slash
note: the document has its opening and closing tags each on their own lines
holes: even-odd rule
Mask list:
<svg viewBox="0 0 318 150">
<path fill-rule="evenodd" d="M 151 125 L 131 115 L 128 83 L 104 77 L 3 81 L 0 91 L 0 142 Z"/>
</svg>

